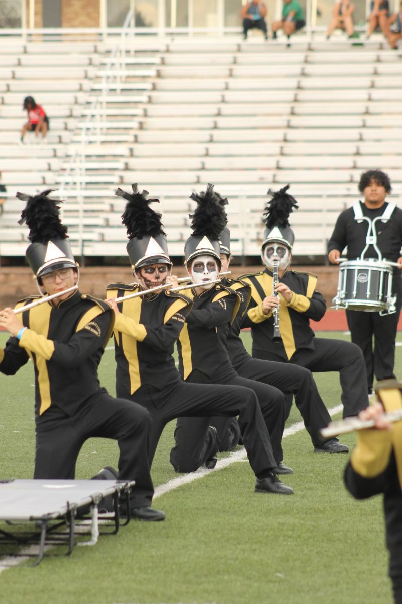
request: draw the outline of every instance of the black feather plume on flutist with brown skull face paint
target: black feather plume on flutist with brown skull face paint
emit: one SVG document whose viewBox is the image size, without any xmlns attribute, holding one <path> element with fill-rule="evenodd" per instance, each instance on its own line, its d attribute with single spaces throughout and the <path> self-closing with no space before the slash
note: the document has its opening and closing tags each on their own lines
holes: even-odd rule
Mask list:
<svg viewBox="0 0 402 604">
<path fill-rule="evenodd" d="M 122 224 L 127 228 L 128 239 L 142 239 L 142 237 L 157 237 L 165 235 L 161 222 L 162 214 L 157 214 L 149 204 L 159 204 L 159 199 L 146 199 L 148 191 L 138 190 L 138 185 L 131 185 L 133 193 L 127 193 L 121 188 L 116 189 L 115 194 L 127 200 L 127 206 L 122 214 Z"/>
</svg>

